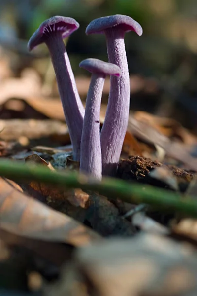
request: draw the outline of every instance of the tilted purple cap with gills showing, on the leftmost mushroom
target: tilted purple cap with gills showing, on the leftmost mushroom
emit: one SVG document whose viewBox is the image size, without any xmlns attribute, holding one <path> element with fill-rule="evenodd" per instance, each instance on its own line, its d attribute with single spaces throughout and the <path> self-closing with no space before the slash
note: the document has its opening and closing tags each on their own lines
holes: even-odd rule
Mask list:
<svg viewBox="0 0 197 296">
<path fill-rule="evenodd" d="M 71 17 L 53 16 L 44 21 L 33 33 L 28 42 L 28 49 L 31 51 L 35 46 L 45 42 L 54 32 L 61 32 L 62 38 L 66 38 L 79 28 L 79 23 Z"/>
</svg>

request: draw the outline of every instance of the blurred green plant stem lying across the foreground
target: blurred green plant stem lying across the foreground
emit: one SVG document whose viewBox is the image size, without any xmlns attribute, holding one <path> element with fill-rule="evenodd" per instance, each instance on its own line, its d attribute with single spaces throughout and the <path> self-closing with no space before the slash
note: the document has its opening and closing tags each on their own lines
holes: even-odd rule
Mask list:
<svg viewBox="0 0 197 296">
<path fill-rule="evenodd" d="M 20 181 L 37 181 L 64 188 L 81 188 L 97 191 L 112 199 L 129 203 L 146 203 L 160 207 L 161 210 L 175 211 L 187 216 L 197 217 L 197 202 L 183 199 L 181 194 L 173 193 L 150 185 L 139 185 L 119 179 L 103 178 L 97 181 L 73 171 L 54 172 L 46 167 L 22 164 L 16 161 L 0 160 L 0 175 Z"/>
</svg>

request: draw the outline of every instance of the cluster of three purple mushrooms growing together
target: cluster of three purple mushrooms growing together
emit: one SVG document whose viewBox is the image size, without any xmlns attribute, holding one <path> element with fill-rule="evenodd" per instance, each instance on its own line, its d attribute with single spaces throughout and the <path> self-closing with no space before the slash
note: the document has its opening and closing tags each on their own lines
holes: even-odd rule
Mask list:
<svg viewBox="0 0 197 296">
<path fill-rule="evenodd" d="M 117 166 L 129 119 L 130 77 L 124 36 L 129 31 L 141 36 L 142 27 L 126 15 L 101 17 L 87 26 L 87 35 L 105 34 L 109 63 L 86 59 L 79 64 L 92 73 L 85 109 L 63 42 L 78 28 L 79 23 L 73 18 L 51 17 L 35 31 L 28 49 L 41 43 L 47 45 L 73 146 L 73 160 L 80 161 L 80 172 L 101 180 L 102 175 L 112 175 Z M 106 75 L 111 75 L 110 93 L 100 132 L 100 104 Z"/>
</svg>

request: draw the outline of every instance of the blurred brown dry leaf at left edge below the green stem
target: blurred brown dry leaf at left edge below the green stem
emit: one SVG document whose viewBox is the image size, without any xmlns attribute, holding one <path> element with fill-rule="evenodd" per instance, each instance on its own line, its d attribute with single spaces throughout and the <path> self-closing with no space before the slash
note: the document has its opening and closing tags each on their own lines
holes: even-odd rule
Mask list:
<svg viewBox="0 0 197 296">
<path fill-rule="evenodd" d="M 29 238 L 82 246 L 99 235 L 0 179 L 0 229 Z"/>
</svg>

